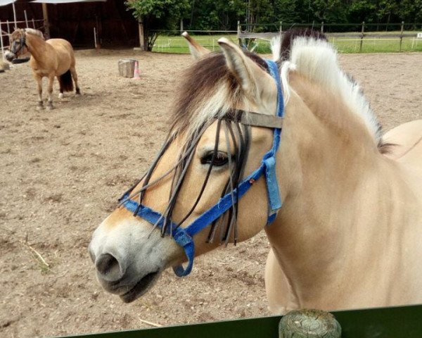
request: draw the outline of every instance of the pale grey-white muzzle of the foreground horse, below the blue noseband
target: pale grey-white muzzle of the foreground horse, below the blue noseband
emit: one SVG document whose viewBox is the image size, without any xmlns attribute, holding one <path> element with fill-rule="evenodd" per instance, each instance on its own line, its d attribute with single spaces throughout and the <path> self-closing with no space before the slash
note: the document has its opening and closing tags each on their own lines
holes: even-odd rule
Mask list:
<svg viewBox="0 0 422 338">
<path fill-rule="evenodd" d="M 148 292 L 166 268 L 160 246 L 168 248 L 168 245 L 162 243 L 165 239 L 159 232 L 149 237 L 150 233 L 149 227 L 142 227 L 133 218 L 122 225 L 106 220 L 96 229 L 89 244 L 98 282 L 125 303 Z M 172 244 L 170 239 L 169 243 Z"/>
</svg>

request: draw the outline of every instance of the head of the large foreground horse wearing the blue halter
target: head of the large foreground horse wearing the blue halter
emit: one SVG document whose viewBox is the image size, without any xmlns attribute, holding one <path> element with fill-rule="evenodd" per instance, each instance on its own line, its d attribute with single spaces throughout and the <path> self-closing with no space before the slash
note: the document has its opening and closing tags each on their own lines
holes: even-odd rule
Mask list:
<svg viewBox="0 0 422 338">
<path fill-rule="evenodd" d="M 227 39 L 219 45 L 222 53 L 204 55 L 191 42 L 198 61 L 182 80 L 165 146 L 94 232 L 89 252 L 98 281 L 123 301 L 145 293 L 166 268 L 186 275 L 193 256 L 260 232 L 271 213 L 268 196 L 279 196 L 259 179 L 275 173 L 274 163 L 262 163 L 281 127 L 274 116 L 281 88 L 270 68 L 279 71 Z"/>
</svg>

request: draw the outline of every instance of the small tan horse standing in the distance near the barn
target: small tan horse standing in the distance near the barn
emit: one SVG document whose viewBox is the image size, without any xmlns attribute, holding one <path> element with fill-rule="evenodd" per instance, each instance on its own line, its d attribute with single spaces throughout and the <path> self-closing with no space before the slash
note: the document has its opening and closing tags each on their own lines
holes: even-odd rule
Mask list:
<svg viewBox="0 0 422 338">
<path fill-rule="evenodd" d="M 76 94 L 80 94 L 77 84 L 77 73 L 75 69 L 75 54 L 72 45 L 65 39 L 44 40 L 39 30 L 32 28 L 18 29 L 11 34 L 11 48 L 6 52 L 8 61 L 12 61 L 18 56 L 27 52 L 31 54 L 30 66 L 32 74 L 38 84 L 38 108 L 42 109 L 42 78 L 49 79 L 48 92 L 49 101 L 47 108 L 53 108 L 54 77 L 57 77 L 60 85 L 59 98 L 63 98 L 63 92 L 72 92 L 73 81 L 75 81 Z"/>
</svg>

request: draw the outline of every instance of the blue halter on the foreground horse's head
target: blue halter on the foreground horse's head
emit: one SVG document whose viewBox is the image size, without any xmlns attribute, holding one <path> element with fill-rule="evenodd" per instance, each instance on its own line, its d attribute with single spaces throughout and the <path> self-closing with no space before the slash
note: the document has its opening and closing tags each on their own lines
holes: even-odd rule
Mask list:
<svg viewBox="0 0 422 338">
<path fill-rule="evenodd" d="M 274 78 L 277 87 L 277 111 L 276 116 L 283 118 L 284 113 L 284 104 L 283 104 L 283 92 L 281 91 L 281 80 L 279 75 L 279 68 L 277 67 L 274 61 L 267 60 L 267 65 L 269 66 L 269 71 L 271 76 Z M 203 230 L 207 225 L 210 225 L 212 222 L 217 220 L 221 215 L 233 206 L 237 202 L 237 199 L 248 192 L 252 184 L 258 180 L 262 175 L 265 175 L 265 180 L 267 182 L 267 192 L 268 192 L 268 201 L 269 201 L 269 213 L 267 218 L 267 225 L 272 223 L 276 218 L 277 211 L 281 208 L 281 196 L 279 192 L 279 184 L 277 183 L 276 177 L 276 151 L 279 149 L 281 136 L 281 128 L 274 127 L 274 137 L 273 145 L 266 154 L 264 154 L 260 168 L 257 168 L 252 174 L 246 177 L 238 187 L 234 189 L 233 192 L 229 192 L 224 195 L 217 204 L 209 208 L 205 213 L 200 215 L 196 220 L 188 225 L 187 227 L 178 227 L 173 222 L 170 223 L 170 226 L 167 227 L 168 234 L 171 234 L 173 239 L 181 246 L 188 258 L 188 265 L 186 268 L 183 268 L 181 265 L 173 267 L 174 273 L 183 277 L 191 273 L 193 267 L 193 258 L 195 256 L 195 244 L 193 242 L 193 236 Z M 238 191 L 237 191 L 238 189 Z M 139 206 L 136 201 L 132 201 L 129 198 L 129 192 L 122 196 L 122 206 L 127 208 L 128 211 L 135 213 L 136 216 L 139 216 L 146 220 L 148 223 L 157 225 L 162 228 L 165 220 L 162 217 L 161 213 L 153 211 L 153 209 L 148 208 L 148 206 Z"/>
</svg>

